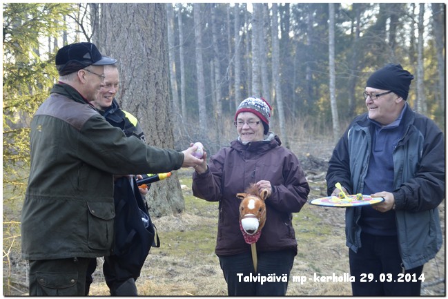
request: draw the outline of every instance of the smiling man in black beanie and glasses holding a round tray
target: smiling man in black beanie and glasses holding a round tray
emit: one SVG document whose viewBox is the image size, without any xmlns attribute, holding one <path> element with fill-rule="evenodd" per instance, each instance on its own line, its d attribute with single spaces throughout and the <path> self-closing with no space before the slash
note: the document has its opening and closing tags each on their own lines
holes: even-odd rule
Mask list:
<svg viewBox="0 0 448 299">
<path fill-rule="evenodd" d="M 367 113 L 351 122 L 329 161 L 328 195 L 340 193 L 340 182 L 345 193 L 384 198 L 346 209 L 353 296 L 420 296 L 423 265 L 442 245 L 444 136 L 407 104 L 412 79 L 400 64 L 373 73 Z"/>
</svg>

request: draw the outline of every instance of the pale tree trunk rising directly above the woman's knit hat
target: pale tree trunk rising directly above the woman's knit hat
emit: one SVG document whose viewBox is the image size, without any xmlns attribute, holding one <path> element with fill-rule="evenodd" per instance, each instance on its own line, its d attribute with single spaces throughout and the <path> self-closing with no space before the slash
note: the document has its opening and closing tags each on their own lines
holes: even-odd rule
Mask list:
<svg viewBox="0 0 448 299">
<path fill-rule="evenodd" d="M 260 88 L 260 22 L 262 15 L 262 4 L 252 3 L 252 95 L 260 97 L 262 89 Z"/>
</svg>

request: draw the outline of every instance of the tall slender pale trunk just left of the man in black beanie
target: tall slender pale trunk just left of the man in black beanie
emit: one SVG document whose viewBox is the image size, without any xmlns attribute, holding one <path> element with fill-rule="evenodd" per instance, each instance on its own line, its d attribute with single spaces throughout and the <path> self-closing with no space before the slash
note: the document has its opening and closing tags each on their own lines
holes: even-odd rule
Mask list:
<svg viewBox="0 0 448 299">
<path fill-rule="evenodd" d="M 331 117 L 333 119 L 333 139 L 335 142 L 339 139 L 339 116 L 338 104 L 336 103 L 336 84 L 335 84 L 335 9 L 334 3 L 329 3 L 329 68 L 330 68 L 330 103 Z"/>
</svg>

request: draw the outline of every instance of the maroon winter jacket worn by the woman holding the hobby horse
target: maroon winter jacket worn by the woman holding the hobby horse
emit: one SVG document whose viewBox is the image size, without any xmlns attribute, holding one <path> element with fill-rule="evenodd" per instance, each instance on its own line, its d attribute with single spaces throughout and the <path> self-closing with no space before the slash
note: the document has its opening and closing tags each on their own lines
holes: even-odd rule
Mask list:
<svg viewBox="0 0 448 299">
<path fill-rule="evenodd" d="M 193 174 L 193 195 L 209 202 L 219 202 L 220 216 L 215 253 L 234 255 L 251 250 L 240 231 L 237 193 L 251 183 L 269 180 L 272 194 L 266 198 L 266 224 L 257 241 L 257 251 L 293 249 L 297 241 L 292 213 L 305 204 L 309 184 L 298 158 L 280 146 L 279 137 L 271 134 L 267 141 L 242 144 L 231 142 L 213 155 L 205 173 Z"/>
</svg>

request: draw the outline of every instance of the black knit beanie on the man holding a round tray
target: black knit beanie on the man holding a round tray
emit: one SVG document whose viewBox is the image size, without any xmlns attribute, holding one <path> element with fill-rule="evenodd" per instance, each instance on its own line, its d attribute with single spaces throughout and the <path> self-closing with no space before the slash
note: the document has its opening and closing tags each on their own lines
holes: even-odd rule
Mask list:
<svg viewBox="0 0 448 299">
<path fill-rule="evenodd" d="M 407 99 L 409 86 L 413 75 L 407 70 L 403 70 L 400 64 L 387 64 L 384 68 L 377 70 L 369 79 L 367 79 L 367 87 L 391 90 L 396 95 Z"/>
</svg>

